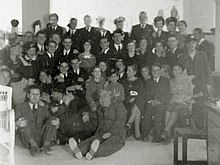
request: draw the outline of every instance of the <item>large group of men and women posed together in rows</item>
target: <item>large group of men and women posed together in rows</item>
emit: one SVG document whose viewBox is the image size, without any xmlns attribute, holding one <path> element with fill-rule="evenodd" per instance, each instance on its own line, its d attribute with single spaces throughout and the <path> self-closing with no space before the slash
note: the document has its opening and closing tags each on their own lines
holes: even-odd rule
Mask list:
<svg viewBox="0 0 220 165">
<path fill-rule="evenodd" d="M 86 15 L 81 29 L 72 18 L 68 32 L 58 18 L 50 14 L 46 29 L 1 54 L 0 84 L 13 88 L 17 135 L 32 156 L 69 143 L 76 158 L 90 160 L 119 151 L 131 135 L 169 142 L 173 127 L 200 115 L 214 60 L 202 29 L 187 34 L 186 21 L 161 16 L 153 26 L 143 11 L 131 33 L 124 17 L 113 33 L 104 18 L 92 27 Z"/>
</svg>

